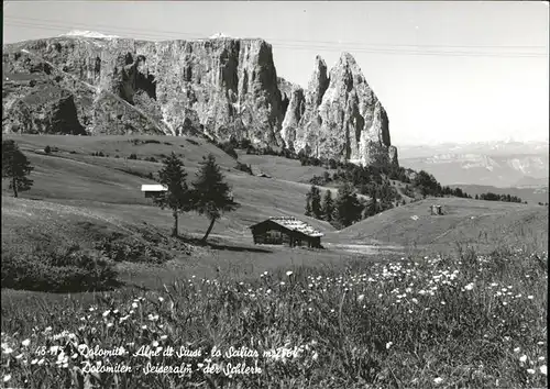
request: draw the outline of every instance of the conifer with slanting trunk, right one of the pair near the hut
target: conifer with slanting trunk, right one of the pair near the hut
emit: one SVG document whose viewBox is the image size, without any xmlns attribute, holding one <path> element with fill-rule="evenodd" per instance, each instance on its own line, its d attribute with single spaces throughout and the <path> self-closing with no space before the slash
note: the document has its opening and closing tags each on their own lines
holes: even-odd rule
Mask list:
<svg viewBox="0 0 550 389">
<path fill-rule="evenodd" d="M 216 163 L 216 157 L 209 154 L 202 159 L 202 167 L 197 173 L 196 181 L 193 182 L 193 192 L 195 210 L 199 214 L 206 214 L 210 220 L 210 225 L 202 237 L 202 242 L 206 242 L 213 224 L 221 214 L 235 210 L 238 204 L 233 201 L 231 188 L 226 182 L 226 178 Z"/>
</svg>

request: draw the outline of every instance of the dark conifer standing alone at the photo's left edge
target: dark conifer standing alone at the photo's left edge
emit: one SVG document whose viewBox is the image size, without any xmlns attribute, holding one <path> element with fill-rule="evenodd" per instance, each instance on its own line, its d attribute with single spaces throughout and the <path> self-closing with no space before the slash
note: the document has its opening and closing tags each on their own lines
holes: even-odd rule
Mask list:
<svg viewBox="0 0 550 389">
<path fill-rule="evenodd" d="M 10 179 L 9 188 L 13 190 L 13 197 L 20 191 L 31 189 L 33 180 L 26 176 L 34 170 L 26 156 L 19 149 L 18 144 L 12 141 L 2 142 L 2 178 Z"/>
</svg>

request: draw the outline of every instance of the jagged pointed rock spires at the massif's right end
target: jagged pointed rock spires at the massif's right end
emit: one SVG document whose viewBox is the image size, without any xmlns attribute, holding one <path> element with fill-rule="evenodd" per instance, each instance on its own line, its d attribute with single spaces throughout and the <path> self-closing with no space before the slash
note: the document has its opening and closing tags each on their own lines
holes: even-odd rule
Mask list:
<svg viewBox="0 0 550 389">
<path fill-rule="evenodd" d="M 294 103 L 300 104 L 299 99 Z M 328 77 L 327 65 L 316 58 L 304 103 L 299 118 L 288 110 L 283 122 L 283 138 L 296 151 L 363 165 L 397 164 L 386 111 L 350 54 L 340 57 Z"/>
</svg>

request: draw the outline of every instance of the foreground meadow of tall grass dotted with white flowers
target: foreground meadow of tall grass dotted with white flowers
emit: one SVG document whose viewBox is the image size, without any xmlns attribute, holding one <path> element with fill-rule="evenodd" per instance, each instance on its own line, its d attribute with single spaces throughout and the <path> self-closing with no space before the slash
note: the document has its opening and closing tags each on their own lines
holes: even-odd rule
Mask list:
<svg viewBox="0 0 550 389">
<path fill-rule="evenodd" d="M 190 277 L 91 305 L 2 310 L 0 377 L 16 388 L 546 387 L 547 286 L 547 253 L 520 248 Z"/>
</svg>

